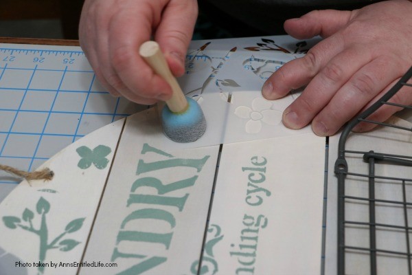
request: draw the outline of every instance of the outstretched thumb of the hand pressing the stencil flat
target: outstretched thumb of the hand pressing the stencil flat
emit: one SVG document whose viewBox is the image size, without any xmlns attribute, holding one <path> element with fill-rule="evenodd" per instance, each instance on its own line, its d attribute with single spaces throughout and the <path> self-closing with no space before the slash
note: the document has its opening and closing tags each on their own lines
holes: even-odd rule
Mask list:
<svg viewBox="0 0 412 275">
<path fill-rule="evenodd" d="M 351 19 L 352 12 L 339 10 L 313 10 L 300 18 L 288 19 L 285 31 L 296 39 L 323 38 L 341 30 Z"/>
</svg>

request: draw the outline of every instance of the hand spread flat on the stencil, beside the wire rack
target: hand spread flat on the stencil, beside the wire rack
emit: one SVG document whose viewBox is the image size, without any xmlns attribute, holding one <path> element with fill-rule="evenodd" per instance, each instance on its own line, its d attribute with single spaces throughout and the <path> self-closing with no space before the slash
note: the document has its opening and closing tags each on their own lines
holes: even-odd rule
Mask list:
<svg viewBox="0 0 412 275">
<path fill-rule="evenodd" d="M 333 135 L 345 122 L 388 91 L 412 65 L 412 2 L 392 0 L 360 10 L 315 10 L 285 22 L 297 39 L 320 35 L 323 41 L 302 58 L 286 63 L 264 84 L 262 94 L 273 100 L 306 85 L 283 114 L 290 129 L 312 121 L 317 135 Z M 389 100 L 412 103 L 412 89 L 404 87 Z M 369 118 L 380 122 L 399 111 L 385 105 Z M 361 123 L 354 131 L 374 125 Z"/>
</svg>

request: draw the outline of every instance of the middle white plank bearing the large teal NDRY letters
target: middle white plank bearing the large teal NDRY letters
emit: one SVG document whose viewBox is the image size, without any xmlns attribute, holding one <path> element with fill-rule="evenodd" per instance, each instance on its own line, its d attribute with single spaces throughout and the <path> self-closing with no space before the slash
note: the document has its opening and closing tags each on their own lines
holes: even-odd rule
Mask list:
<svg viewBox="0 0 412 275">
<path fill-rule="evenodd" d="M 156 114 L 127 119 L 84 257 L 117 267 L 80 274 L 185 274 L 201 256 L 219 146 L 176 150 Z"/>
</svg>

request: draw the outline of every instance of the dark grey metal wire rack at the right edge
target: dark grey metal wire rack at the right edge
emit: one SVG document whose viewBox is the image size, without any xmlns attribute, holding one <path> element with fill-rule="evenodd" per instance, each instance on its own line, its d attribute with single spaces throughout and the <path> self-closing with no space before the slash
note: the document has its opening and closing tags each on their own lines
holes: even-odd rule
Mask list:
<svg viewBox="0 0 412 275">
<path fill-rule="evenodd" d="M 338 179 L 338 274 L 412 275 L 412 172 L 405 172 L 412 170 L 411 140 L 402 143 L 401 154 L 391 152 L 391 139 L 384 141 L 387 145 L 380 152 L 371 149 L 374 144 L 365 148 L 369 147 L 366 144 L 361 150 L 347 148 L 353 135 L 362 135 L 351 133 L 359 123 L 378 124 L 411 136 L 409 127 L 369 119 L 389 105 L 412 109 L 390 102 L 400 89 L 412 87 L 411 78 L 412 67 L 380 100 L 350 121 L 341 134 L 334 164 Z M 389 189 L 396 195 L 389 196 Z"/>
</svg>

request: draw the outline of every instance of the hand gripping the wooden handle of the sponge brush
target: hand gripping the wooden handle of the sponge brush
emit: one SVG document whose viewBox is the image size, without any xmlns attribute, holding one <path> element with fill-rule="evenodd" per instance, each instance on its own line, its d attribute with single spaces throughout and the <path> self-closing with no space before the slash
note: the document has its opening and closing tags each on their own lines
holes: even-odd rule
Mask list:
<svg viewBox="0 0 412 275">
<path fill-rule="evenodd" d="M 86 0 L 80 45 L 111 94 L 140 104 L 168 100 L 170 86 L 139 56 L 139 47 L 155 39 L 172 73 L 181 76 L 197 13 L 196 0 Z"/>
</svg>

